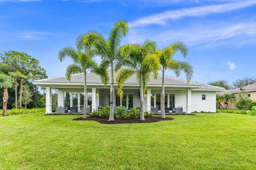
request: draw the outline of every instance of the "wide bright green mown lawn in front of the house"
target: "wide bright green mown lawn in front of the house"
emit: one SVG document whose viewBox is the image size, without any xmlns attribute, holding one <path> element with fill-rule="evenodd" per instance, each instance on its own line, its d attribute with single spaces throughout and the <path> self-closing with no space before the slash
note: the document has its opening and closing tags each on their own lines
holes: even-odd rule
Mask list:
<svg viewBox="0 0 256 170">
<path fill-rule="evenodd" d="M 0 117 L 0 169 L 256 169 L 256 116 L 106 125 L 43 114 Z"/>
</svg>

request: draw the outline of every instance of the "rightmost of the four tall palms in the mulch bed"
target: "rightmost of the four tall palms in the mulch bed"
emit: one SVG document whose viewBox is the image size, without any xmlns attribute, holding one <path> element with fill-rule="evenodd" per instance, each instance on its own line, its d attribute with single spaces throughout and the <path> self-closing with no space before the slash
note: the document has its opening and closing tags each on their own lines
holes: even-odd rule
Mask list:
<svg viewBox="0 0 256 170">
<path fill-rule="evenodd" d="M 165 118 L 165 89 L 164 89 L 164 76 L 165 71 L 170 70 L 179 77 L 180 72 L 183 71 L 186 73 L 187 80 L 190 81 L 193 75 L 193 68 L 187 62 L 180 62 L 173 60 L 173 55 L 180 51 L 183 57 L 187 56 L 188 49 L 187 46 L 181 42 L 173 43 L 169 47 L 165 47 L 163 50 L 157 50 L 156 55 L 159 57 L 160 70 L 162 72 L 162 94 L 161 94 L 161 117 Z"/>
</svg>

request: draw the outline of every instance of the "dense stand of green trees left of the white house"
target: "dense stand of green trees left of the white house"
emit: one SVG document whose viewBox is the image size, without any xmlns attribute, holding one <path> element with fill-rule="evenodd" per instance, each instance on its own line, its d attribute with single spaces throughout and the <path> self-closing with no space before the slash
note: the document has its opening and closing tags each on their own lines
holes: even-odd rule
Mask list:
<svg viewBox="0 0 256 170">
<path fill-rule="evenodd" d="M 0 57 L 0 87 L 3 89 L 0 92 L 0 96 L 3 96 L 0 105 L 3 106 L 3 115 L 6 115 L 7 108 L 44 107 L 44 96 L 33 84 L 34 80 L 47 78 L 39 61 L 16 51 L 5 52 Z M 30 103 L 31 100 L 34 102 Z"/>
</svg>

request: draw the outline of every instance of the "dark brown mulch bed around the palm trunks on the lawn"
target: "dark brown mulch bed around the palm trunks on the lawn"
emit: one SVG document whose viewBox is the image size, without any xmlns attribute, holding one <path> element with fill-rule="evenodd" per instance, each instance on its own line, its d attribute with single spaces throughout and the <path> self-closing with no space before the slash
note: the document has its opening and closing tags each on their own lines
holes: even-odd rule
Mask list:
<svg viewBox="0 0 256 170">
<path fill-rule="evenodd" d="M 174 120 L 174 118 L 171 118 L 171 117 L 161 118 L 159 116 L 145 117 L 145 121 L 141 121 L 139 118 L 108 121 L 108 118 L 91 117 L 91 116 L 87 116 L 86 119 L 83 119 L 83 117 L 78 117 L 73 119 L 73 121 L 97 121 L 101 124 L 153 123 L 153 122 L 159 122 L 159 121 L 172 121 L 172 120 Z"/>
</svg>

